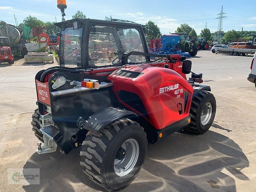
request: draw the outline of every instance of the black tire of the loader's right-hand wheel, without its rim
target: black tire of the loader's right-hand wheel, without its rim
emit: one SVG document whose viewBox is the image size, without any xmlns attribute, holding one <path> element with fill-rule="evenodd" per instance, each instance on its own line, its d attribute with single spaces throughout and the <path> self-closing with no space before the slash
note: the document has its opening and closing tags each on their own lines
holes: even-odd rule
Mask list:
<svg viewBox="0 0 256 192">
<path fill-rule="evenodd" d="M 201 123 L 201 112 L 204 105 L 210 102 L 212 104 L 212 116 L 206 125 Z M 195 132 L 197 134 L 203 134 L 208 131 L 212 126 L 214 117 L 216 113 L 216 100 L 212 93 L 206 91 L 197 92 L 191 102 L 191 107 L 189 111 L 189 116 L 191 117 L 190 124 L 185 128 L 189 131 Z"/>
</svg>

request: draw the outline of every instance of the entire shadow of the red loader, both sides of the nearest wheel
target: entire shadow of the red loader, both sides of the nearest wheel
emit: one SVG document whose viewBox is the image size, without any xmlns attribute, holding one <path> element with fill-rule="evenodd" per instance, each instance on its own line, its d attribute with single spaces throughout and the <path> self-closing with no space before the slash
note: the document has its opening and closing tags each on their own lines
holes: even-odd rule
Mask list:
<svg viewBox="0 0 256 192">
<path fill-rule="evenodd" d="M 40 185 L 23 186 L 24 190 L 75 192 L 78 188 L 83 191 L 92 188 L 105 191 L 87 178 L 79 160 L 79 148 L 68 155 L 34 153 L 23 168 L 40 168 Z M 249 180 L 241 171 L 248 166 L 242 149 L 224 135 L 213 131 L 203 135 L 174 133 L 154 145 L 148 144 L 140 174 L 121 191 L 234 192 L 233 177 Z"/>
</svg>

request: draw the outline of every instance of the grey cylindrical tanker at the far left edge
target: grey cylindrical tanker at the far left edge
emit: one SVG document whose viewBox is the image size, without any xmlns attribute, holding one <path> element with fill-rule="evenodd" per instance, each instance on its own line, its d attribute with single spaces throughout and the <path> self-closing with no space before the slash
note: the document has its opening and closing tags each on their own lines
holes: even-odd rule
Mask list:
<svg viewBox="0 0 256 192">
<path fill-rule="evenodd" d="M 8 46 L 12 49 L 12 53 L 20 52 L 24 57 L 28 53 L 26 43 L 17 27 L 6 24 L 4 21 L 0 22 L 0 46 Z"/>
</svg>

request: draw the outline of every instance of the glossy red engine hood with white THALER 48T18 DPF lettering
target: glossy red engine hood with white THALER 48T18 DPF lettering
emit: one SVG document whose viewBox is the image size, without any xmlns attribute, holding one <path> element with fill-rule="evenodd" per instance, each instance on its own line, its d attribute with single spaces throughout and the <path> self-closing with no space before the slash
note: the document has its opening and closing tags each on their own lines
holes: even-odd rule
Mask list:
<svg viewBox="0 0 256 192">
<path fill-rule="evenodd" d="M 181 70 L 181 67 L 177 67 L 177 70 L 179 70 L 179 68 Z M 121 76 L 122 74 L 118 72 L 122 70 L 143 74 L 135 78 Z M 148 64 L 130 65 L 116 70 L 108 76 L 108 80 L 114 84 L 112 89 L 119 102 L 140 116 L 143 116 L 158 130 L 186 118 L 189 115 L 193 87 L 183 76 L 176 73 L 174 70 L 152 67 L 152 64 L 151 66 Z M 122 101 L 117 93 L 119 91 L 137 94 L 144 104 L 148 117 Z M 184 108 L 185 92 L 188 93 L 186 108 Z M 179 113 L 180 108 L 182 108 L 182 114 Z"/>
</svg>

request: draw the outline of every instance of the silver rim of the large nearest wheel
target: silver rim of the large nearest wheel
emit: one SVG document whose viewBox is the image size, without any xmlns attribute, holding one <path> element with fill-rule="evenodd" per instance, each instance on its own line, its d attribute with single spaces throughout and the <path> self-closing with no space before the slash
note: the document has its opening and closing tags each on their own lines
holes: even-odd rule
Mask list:
<svg viewBox="0 0 256 192">
<path fill-rule="evenodd" d="M 120 149 L 125 150 L 125 155 L 123 159 L 117 158 Z M 124 141 L 120 149 L 118 150 L 114 161 L 114 171 L 116 175 L 123 177 L 130 173 L 132 169 L 135 167 L 139 158 L 140 145 L 137 140 L 128 139 Z"/>
</svg>

